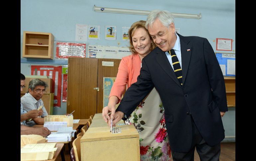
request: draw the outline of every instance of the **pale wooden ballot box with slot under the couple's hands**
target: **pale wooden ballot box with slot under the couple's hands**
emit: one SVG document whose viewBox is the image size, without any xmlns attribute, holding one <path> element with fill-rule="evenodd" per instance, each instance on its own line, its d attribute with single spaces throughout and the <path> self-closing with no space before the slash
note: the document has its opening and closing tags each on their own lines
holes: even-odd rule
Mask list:
<svg viewBox="0 0 256 161">
<path fill-rule="evenodd" d="M 81 138 L 81 161 L 140 161 L 139 133 L 134 125 L 118 125 L 121 133 L 110 132 L 110 127 L 102 119 L 101 114 L 95 114 L 92 124 Z"/>
</svg>

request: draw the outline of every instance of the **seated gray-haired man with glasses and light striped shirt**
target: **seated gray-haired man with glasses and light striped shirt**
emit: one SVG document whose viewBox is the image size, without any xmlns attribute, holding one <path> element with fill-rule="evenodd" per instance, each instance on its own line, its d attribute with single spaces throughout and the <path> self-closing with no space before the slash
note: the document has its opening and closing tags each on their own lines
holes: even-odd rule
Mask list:
<svg viewBox="0 0 256 161">
<path fill-rule="evenodd" d="M 32 118 L 32 121 L 26 122 L 26 125 L 33 126 L 35 124 L 44 124 L 44 117 L 48 115 L 42 97 L 45 93 L 45 89 L 48 87 L 47 82 L 40 79 L 32 79 L 29 82 L 28 92 L 21 97 L 21 103 L 23 109 L 27 112 L 31 110 L 37 110 L 42 106 L 43 114 L 37 118 Z"/>
</svg>

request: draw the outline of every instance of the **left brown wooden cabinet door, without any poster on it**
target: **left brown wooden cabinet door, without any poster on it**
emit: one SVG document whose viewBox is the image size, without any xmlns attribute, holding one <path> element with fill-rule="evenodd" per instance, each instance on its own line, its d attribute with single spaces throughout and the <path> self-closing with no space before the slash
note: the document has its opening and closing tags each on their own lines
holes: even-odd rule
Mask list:
<svg viewBox="0 0 256 161">
<path fill-rule="evenodd" d="M 88 119 L 97 107 L 97 59 L 68 58 L 67 113 Z"/>
</svg>

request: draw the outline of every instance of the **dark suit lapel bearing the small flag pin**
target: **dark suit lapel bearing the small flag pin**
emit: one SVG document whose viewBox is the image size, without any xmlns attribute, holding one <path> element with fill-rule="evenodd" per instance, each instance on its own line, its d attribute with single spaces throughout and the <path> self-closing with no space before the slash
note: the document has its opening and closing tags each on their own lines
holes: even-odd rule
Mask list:
<svg viewBox="0 0 256 161">
<path fill-rule="evenodd" d="M 184 85 L 189 69 L 192 45 L 183 36 L 179 35 L 179 37 L 181 42 L 182 84 Z"/>
</svg>

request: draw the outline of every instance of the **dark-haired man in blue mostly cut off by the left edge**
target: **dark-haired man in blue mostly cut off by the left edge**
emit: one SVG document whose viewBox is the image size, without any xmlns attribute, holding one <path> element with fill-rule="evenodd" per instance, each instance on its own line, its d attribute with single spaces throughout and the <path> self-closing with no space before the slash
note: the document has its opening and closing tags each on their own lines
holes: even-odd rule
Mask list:
<svg viewBox="0 0 256 161">
<path fill-rule="evenodd" d="M 25 76 L 20 73 L 20 91 L 23 91 L 23 88 L 25 88 L 24 84 L 25 84 Z M 23 106 L 21 104 L 20 106 L 20 111 L 21 111 L 21 115 L 20 115 L 20 121 L 22 122 L 23 125 L 26 125 L 26 120 L 28 119 L 34 119 L 37 118 L 38 116 L 43 115 L 43 110 L 31 110 L 29 112 L 23 110 Z"/>
</svg>

